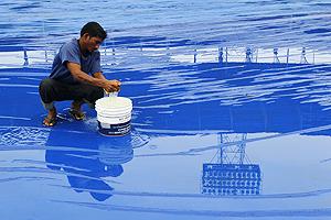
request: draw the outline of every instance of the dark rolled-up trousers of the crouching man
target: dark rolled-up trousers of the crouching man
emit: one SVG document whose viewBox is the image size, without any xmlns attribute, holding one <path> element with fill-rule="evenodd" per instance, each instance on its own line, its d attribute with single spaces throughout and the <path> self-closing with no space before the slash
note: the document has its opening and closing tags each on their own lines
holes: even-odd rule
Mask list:
<svg viewBox="0 0 331 220">
<path fill-rule="evenodd" d="M 51 78 L 41 81 L 39 94 L 46 109 L 52 108 L 54 101 L 76 100 L 95 105 L 97 99 L 104 97 L 100 87 L 88 84 L 70 85 Z"/>
</svg>

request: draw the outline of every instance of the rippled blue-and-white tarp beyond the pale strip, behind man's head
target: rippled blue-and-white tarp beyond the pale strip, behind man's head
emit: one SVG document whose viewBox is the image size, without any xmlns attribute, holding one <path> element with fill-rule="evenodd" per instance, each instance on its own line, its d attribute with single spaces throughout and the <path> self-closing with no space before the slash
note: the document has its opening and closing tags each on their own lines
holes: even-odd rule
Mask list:
<svg viewBox="0 0 331 220">
<path fill-rule="evenodd" d="M 96 13 L 89 13 L 90 10 Z M 58 18 L 66 11 L 71 13 Z M 196 48 L 236 46 L 306 47 L 330 53 L 330 11 L 331 4 L 320 0 L 143 0 L 139 3 L 106 0 L 95 7 L 85 1 L 4 0 L 0 4 L 0 47 L 1 51 L 56 51 L 67 38 L 77 37 L 85 22 L 97 20 L 109 32 L 104 47 L 113 50 L 172 48 L 166 53 L 175 54 L 177 48 L 184 47 L 186 52 L 181 54 L 193 54 Z M 28 13 L 33 16 L 17 15 Z M 156 56 L 158 53 L 153 52 L 146 59 L 159 61 Z M 130 59 L 129 63 L 136 64 L 137 58 L 135 51 L 117 54 L 117 63 L 127 64 Z"/>
</svg>

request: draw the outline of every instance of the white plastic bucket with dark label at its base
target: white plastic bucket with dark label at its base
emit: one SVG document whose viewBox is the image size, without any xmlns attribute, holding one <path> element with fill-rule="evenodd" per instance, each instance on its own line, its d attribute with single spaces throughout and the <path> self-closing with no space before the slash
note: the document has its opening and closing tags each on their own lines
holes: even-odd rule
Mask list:
<svg viewBox="0 0 331 220">
<path fill-rule="evenodd" d="M 131 129 L 132 101 L 124 97 L 104 97 L 95 103 L 98 129 L 105 135 L 125 135 Z"/>
</svg>

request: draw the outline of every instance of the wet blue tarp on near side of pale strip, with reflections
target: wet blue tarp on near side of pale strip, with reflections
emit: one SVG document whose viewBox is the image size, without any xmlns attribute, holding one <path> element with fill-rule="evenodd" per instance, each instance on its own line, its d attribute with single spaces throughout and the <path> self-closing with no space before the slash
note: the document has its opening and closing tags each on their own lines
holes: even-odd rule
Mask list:
<svg viewBox="0 0 331 220">
<path fill-rule="evenodd" d="M 85 121 L 73 121 L 68 102 L 58 103 L 58 124 L 43 128 L 38 84 L 47 70 L 1 70 L 1 213 L 329 218 L 330 69 L 113 69 L 134 101 L 132 131 L 121 138 L 98 134 L 87 108 Z"/>
</svg>

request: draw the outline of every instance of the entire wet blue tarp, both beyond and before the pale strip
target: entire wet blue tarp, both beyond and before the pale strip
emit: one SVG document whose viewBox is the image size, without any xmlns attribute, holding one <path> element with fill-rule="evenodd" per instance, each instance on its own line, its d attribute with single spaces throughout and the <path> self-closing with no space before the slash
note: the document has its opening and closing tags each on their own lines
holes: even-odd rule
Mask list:
<svg viewBox="0 0 331 220">
<path fill-rule="evenodd" d="M 82 13 L 113 31 L 105 47 L 330 48 L 325 1 L 105 1 L 89 7 L 98 15 L 86 4 L 3 1 L 0 51 L 56 47 Z M 100 135 L 87 107 L 74 121 L 68 101 L 42 127 L 50 64 L 0 69 L 1 219 L 331 218 L 330 64 L 129 58 L 104 66 L 134 102 L 126 136 Z"/>
</svg>

